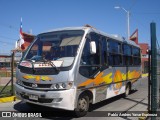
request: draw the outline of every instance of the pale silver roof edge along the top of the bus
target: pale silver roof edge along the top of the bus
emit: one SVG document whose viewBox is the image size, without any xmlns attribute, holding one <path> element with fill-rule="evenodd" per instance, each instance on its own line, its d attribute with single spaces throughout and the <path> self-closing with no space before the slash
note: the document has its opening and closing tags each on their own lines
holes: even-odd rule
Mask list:
<svg viewBox="0 0 160 120">
<path fill-rule="evenodd" d="M 108 38 L 115 39 L 117 41 L 120 41 L 120 42 L 123 42 L 123 43 L 127 43 L 127 44 L 130 44 L 130 45 L 139 47 L 139 45 L 137 45 L 132 40 L 127 40 L 124 37 L 120 37 L 120 36 L 117 36 L 117 35 L 112 35 L 112 34 L 108 34 L 108 33 L 102 32 L 100 30 L 95 29 L 92 26 L 58 28 L 58 29 L 52 29 L 52 30 L 49 30 L 49 31 L 46 31 L 46 32 L 42 32 L 41 34 L 48 33 L 48 32 L 55 32 L 55 31 L 63 31 L 63 30 L 84 30 L 84 31 L 90 31 L 90 32 L 93 31 L 93 32 L 96 32 L 98 34 L 104 35 L 104 36 L 106 36 Z"/>
</svg>

